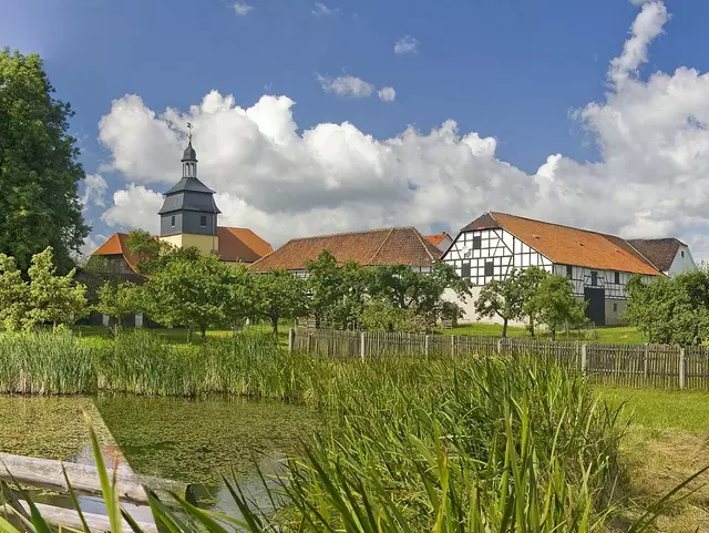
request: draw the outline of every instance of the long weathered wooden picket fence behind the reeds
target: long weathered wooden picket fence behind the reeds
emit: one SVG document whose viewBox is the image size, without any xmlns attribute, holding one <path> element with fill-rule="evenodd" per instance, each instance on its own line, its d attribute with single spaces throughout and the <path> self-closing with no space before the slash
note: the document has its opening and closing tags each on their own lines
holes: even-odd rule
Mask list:
<svg viewBox="0 0 709 533">
<path fill-rule="evenodd" d="M 291 329 L 290 350 L 367 360 L 381 353 L 412 357 L 475 353 L 552 359 L 579 369 L 590 382 L 621 387 L 709 390 L 709 346 L 619 345 L 530 338 Z"/>
</svg>

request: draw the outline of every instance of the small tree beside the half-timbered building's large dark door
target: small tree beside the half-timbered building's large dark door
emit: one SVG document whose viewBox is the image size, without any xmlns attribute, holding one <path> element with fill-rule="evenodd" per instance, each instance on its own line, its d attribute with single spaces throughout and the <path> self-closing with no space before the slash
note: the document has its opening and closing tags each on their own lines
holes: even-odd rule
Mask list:
<svg viewBox="0 0 709 533">
<path fill-rule="evenodd" d="M 526 303 L 527 312 L 546 325 L 552 340 L 556 339 L 556 330 L 561 325 L 586 321 L 586 303 L 574 298 L 573 290 L 571 279 L 549 274 L 544 276 L 536 293 Z"/>
</svg>

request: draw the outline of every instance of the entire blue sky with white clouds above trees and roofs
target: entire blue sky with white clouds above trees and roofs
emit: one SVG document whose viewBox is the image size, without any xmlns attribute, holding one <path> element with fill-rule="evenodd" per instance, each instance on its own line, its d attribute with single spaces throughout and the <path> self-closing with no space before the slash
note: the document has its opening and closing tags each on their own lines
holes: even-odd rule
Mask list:
<svg viewBox="0 0 709 533">
<path fill-rule="evenodd" d="M 487 211 L 709 259 L 709 2 L 0 0 L 72 104 L 84 252 L 158 232 L 186 124 L 220 225 L 423 233 Z"/>
</svg>

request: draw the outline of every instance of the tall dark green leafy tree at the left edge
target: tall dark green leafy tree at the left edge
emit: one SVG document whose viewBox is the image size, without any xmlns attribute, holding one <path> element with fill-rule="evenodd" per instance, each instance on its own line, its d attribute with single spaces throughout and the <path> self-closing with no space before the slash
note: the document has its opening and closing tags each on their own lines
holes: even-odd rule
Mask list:
<svg viewBox="0 0 709 533">
<path fill-rule="evenodd" d="M 53 93 L 39 55 L 0 51 L 0 252 L 21 270 L 48 246 L 69 270 L 90 229 L 78 196 L 84 171 L 66 133 L 73 112 Z"/>
</svg>

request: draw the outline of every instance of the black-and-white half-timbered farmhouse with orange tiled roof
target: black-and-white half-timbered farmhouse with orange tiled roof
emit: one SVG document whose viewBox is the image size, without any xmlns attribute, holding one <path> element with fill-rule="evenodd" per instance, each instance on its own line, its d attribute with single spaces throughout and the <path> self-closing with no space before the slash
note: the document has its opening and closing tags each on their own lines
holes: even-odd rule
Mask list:
<svg viewBox="0 0 709 533">
<path fill-rule="evenodd" d="M 676 255 L 681 258 L 684 252 L 684 257 L 691 260 L 689 250 L 681 249 L 679 240 L 667 240 L 679 244 Z M 653 242 L 630 242 L 597 232 L 489 212 L 461 229 L 443 260 L 473 283 L 473 298 L 459 303 L 466 320 L 477 318 L 474 303 L 481 286 L 491 279 L 504 279 L 514 268 L 538 266 L 572 280 L 574 295 L 588 301 L 586 315 L 596 325 L 617 325 L 624 320 L 627 304 L 625 286 L 630 277 L 637 274 L 646 280 L 653 279 L 669 271 L 675 260 L 675 256 L 669 263 L 666 260 L 665 256 L 671 255 L 669 246 L 667 254 L 660 257 L 660 254 L 651 254 L 656 245 L 646 243 Z M 654 257 L 657 264 L 648 256 Z M 452 295 L 446 297 L 455 300 Z"/>
</svg>

